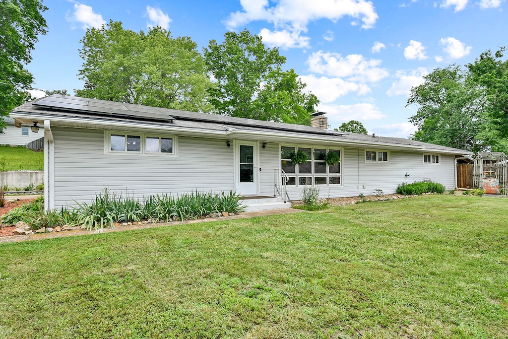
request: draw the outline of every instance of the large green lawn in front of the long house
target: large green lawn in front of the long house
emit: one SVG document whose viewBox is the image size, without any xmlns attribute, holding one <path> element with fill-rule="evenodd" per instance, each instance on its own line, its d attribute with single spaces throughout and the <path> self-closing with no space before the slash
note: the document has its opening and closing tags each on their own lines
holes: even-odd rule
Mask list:
<svg viewBox="0 0 508 339">
<path fill-rule="evenodd" d="M 0 337 L 508 337 L 508 200 L 0 245 Z"/>
</svg>

